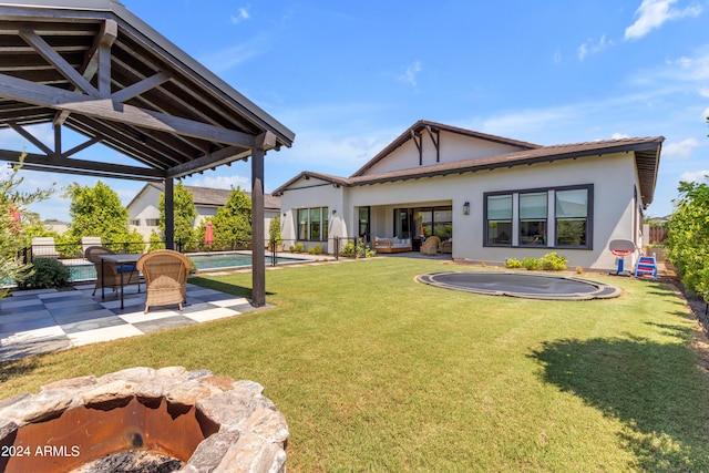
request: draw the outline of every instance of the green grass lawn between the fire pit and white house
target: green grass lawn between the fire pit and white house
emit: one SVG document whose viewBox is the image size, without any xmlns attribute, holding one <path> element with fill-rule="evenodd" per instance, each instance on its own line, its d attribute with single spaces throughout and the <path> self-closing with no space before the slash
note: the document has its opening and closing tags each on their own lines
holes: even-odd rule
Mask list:
<svg viewBox="0 0 709 473">
<path fill-rule="evenodd" d="M 276 309 L 7 362 L 0 398 L 179 364 L 261 383 L 288 420 L 290 472 L 709 471 L 703 335 L 671 288 L 594 276 L 624 296 L 540 301 L 413 279 L 448 269 L 267 271 Z M 248 296 L 250 274 L 195 282 Z"/>
</svg>

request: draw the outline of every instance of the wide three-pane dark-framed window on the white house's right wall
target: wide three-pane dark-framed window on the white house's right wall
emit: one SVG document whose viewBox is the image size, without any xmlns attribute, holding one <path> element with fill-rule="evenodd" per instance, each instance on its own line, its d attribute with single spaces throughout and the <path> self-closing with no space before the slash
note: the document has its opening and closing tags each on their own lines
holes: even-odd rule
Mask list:
<svg viewBox="0 0 709 473">
<path fill-rule="evenodd" d="M 484 195 L 485 246 L 592 248 L 593 185 Z"/>
</svg>

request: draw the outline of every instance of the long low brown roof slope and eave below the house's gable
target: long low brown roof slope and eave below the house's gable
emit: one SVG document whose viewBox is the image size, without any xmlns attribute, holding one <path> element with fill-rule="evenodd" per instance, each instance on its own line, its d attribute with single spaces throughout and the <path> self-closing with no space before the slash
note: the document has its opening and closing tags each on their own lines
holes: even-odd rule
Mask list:
<svg viewBox="0 0 709 473">
<path fill-rule="evenodd" d="M 640 183 L 640 195 L 644 205 L 653 203 L 655 185 L 657 183 L 657 171 L 659 167 L 660 151 L 665 137 L 636 137 L 595 141 L 586 143 L 559 144 L 553 146 L 528 147 L 518 152 L 504 153 L 493 156 L 475 157 L 450 163 L 441 163 L 429 166 L 418 166 L 408 169 L 392 171 L 387 173 L 359 175 L 354 173 L 351 177 L 336 177 L 327 174 L 312 172 L 300 173 L 274 191 L 275 195 L 282 193 L 296 181 L 312 176 L 322 178 L 326 182 L 341 186 L 353 187 L 372 184 L 383 184 L 397 181 L 419 179 L 424 177 L 445 176 L 451 174 L 474 173 L 484 169 L 496 169 L 531 165 L 536 163 L 551 163 L 559 160 L 576 160 L 586 156 L 604 156 L 614 153 L 635 153 L 636 166 L 638 169 L 638 181 Z M 389 148 L 390 146 L 388 146 Z M 380 153 L 381 154 L 381 153 Z"/>
</svg>

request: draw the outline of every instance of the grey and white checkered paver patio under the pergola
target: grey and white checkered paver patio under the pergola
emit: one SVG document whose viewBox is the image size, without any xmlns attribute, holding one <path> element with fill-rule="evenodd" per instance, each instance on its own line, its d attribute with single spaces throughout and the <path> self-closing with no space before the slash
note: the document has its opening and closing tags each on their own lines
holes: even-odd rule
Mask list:
<svg viewBox="0 0 709 473">
<path fill-rule="evenodd" d="M 141 290 L 125 288 L 123 309 L 117 291 L 107 290 L 105 300 L 100 291 L 92 297 L 93 284 L 66 291 L 21 291 L 0 300 L 0 361 L 257 310 L 245 298 L 188 284 L 182 312 L 168 306 L 143 313 L 144 285 Z"/>
</svg>

